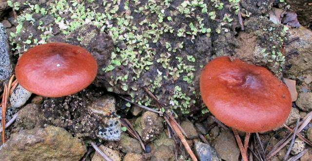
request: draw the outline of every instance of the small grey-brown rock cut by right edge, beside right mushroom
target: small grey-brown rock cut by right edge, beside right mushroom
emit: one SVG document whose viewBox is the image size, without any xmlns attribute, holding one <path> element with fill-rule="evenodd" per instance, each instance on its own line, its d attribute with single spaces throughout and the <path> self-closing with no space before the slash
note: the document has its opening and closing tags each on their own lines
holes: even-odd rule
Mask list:
<svg viewBox="0 0 312 161">
<path fill-rule="evenodd" d="M 302 111 L 311 111 L 312 110 L 312 92 L 300 93 L 296 105 Z"/>
</svg>

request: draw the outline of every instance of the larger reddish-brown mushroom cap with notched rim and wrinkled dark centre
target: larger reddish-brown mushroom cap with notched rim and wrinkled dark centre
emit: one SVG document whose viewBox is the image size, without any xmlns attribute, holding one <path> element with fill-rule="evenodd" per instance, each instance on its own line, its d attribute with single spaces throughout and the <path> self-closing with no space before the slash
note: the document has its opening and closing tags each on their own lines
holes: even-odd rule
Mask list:
<svg viewBox="0 0 312 161">
<path fill-rule="evenodd" d="M 200 77 L 202 100 L 224 124 L 244 132 L 265 132 L 290 114 L 289 90 L 264 67 L 238 59 L 210 61 Z"/>
</svg>

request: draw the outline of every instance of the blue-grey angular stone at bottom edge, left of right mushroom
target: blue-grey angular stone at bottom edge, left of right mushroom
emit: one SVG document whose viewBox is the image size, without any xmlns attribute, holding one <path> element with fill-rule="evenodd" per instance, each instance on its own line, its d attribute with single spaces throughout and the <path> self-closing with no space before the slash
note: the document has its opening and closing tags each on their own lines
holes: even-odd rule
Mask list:
<svg viewBox="0 0 312 161">
<path fill-rule="evenodd" d="M 195 153 L 199 161 L 221 161 L 213 147 L 200 141 L 195 141 Z"/>
</svg>

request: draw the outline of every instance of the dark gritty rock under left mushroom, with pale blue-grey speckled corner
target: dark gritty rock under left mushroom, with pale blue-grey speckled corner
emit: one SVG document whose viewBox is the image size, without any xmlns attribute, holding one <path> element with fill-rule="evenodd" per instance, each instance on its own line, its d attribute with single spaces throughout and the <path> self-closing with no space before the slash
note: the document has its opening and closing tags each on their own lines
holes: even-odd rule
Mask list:
<svg viewBox="0 0 312 161">
<path fill-rule="evenodd" d="M 48 124 L 64 127 L 75 136 L 118 140 L 115 99 L 102 95 L 103 91 L 89 86 L 75 95 L 46 99 L 41 110 Z"/>
</svg>

